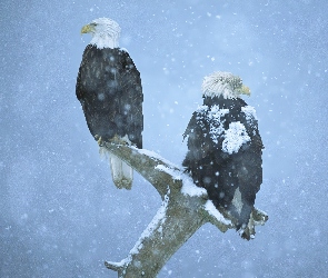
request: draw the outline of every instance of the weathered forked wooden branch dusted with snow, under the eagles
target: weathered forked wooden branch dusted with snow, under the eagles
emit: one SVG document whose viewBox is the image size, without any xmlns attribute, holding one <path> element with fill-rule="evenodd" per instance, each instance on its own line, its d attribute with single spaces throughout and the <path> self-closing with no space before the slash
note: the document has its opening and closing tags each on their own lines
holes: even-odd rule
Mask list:
<svg viewBox="0 0 328 278">
<path fill-rule="evenodd" d="M 152 221 L 120 262 L 106 261 L 119 278 L 156 277 L 168 259 L 206 222 L 222 232 L 236 228 L 228 211 L 218 211 L 208 200 L 205 189 L 197 187 L 182 169 L 155 152 L 133 147 L 101 142 L 107 151 L 120 157 L 159 192 L 162 203 Z M 255 226 L 264 225 L 268 216 L 257 209 L 245 231 L 255 236 Z"/>
</svg>

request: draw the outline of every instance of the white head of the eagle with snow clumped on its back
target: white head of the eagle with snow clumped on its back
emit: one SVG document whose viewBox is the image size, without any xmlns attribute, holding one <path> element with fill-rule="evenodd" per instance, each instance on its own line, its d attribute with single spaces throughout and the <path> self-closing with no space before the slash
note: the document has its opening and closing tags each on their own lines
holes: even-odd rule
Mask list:
<svg viewBox="0 0 328 278">
<path fill-rule="evenodd" d="M 250 96 L 250 90 L 242 85 L 240 77 L 230 72 L 216 71 L 203 78 L 201 91 L 203 97 L 238 98 L 240 95 Z"/>
</svg>

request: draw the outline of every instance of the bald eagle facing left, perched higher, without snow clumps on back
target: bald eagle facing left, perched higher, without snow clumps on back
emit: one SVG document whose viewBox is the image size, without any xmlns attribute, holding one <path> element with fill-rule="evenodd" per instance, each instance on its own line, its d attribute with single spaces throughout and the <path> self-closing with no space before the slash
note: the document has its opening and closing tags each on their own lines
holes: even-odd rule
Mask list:
<svg viewBox="0 0 328 278">
<path fill-rule="evenodd" d="M 96 140 L 116 141 L 142 148 L 142 87 L 140 73 L 127 50 L 119 48 L 119 24 L 99 18 L 81 29 L 91 33 L 80 64 L 76 93 L 88 128 Z M 130 189 L 133 171 L 110 155 L 112 179 Z"/>
</svg>

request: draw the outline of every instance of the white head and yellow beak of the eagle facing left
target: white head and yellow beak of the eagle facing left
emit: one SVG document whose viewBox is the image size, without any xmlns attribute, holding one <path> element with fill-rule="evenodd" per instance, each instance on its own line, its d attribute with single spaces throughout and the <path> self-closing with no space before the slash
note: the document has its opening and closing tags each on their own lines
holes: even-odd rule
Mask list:
<svg viewBox="0 0 328 278">
<path fill-rule="evenodd" d="M 109 18 L 95 19 L 81 29 L 81 34 L 91 33 L 90 44 L 95 44 L 99 49 L 118 48 L 120 32 L 120 26 Z"/>
</svg>

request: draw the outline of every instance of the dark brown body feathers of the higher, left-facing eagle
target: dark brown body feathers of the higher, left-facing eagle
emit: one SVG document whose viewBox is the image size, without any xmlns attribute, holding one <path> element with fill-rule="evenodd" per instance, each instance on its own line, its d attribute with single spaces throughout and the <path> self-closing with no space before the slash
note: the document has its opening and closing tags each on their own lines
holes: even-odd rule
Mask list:
<svg viewBox="0 0 328 278">
<path fill-rule="evenodd" d="M 109 140 L 128 136 L 142 148 L 142 88 L 129 53 L 87 46 L 76 88 L 91 135 Z"/>
</svg>

